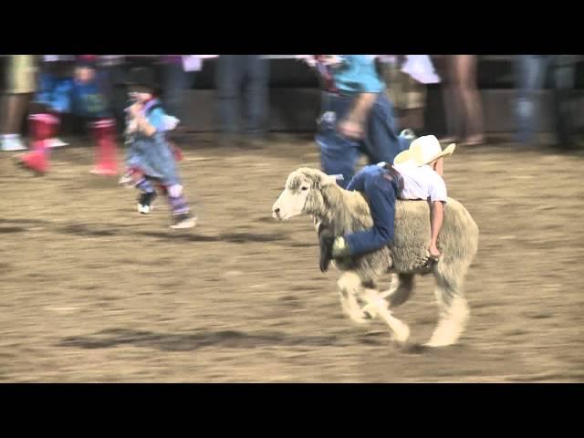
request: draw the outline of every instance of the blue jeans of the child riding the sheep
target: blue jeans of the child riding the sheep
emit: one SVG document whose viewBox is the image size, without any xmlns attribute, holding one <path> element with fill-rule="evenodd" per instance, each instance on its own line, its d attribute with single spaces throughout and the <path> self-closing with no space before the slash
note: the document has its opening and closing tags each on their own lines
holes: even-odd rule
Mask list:
<svg viewBox="0 0 584 438">
<path fill-rule="evenodd" d="M 395 200 L 398 182 L 390 173 L 377 166 L 364 167 L 350 181 L 347 190 L 362 192 L 370 204 L 373 228 L 345 235 L 350 255 L 361 255 L 393 243 L 395 224 Z"/>
</svg>

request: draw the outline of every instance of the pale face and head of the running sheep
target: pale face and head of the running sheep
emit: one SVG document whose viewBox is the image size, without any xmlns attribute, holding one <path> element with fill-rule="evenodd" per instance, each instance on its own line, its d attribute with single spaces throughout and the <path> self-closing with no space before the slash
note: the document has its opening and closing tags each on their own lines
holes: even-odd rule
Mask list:
<svg viewBox="0 0 584 438">
<path fill-rule="evenodd" d="M 318 214 L 323 204 L 320 189 L 336 184 L 334 176 L 307 167 L 297 169 L 288 176 L 284 191 L 272 205 L 272 216 L 287 221 L 298 214 Z"/>
</svg>

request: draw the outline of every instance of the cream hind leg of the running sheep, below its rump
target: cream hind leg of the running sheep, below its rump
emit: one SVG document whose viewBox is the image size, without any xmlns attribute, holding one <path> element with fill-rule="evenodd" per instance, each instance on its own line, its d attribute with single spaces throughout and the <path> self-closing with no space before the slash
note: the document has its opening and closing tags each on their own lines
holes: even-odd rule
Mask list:
<svg viewBox="0 0 584 438">
<path fill-rule="evenodd" d="M 452 266 L 438 266 L 435 269 L 434 295 L 438 302 L 439 319 L 426 346 L 453 345 L 462 335 L 470 314 L 462 290 L 464 273 L 464 268 L 454 269 Z"/>
</svg>

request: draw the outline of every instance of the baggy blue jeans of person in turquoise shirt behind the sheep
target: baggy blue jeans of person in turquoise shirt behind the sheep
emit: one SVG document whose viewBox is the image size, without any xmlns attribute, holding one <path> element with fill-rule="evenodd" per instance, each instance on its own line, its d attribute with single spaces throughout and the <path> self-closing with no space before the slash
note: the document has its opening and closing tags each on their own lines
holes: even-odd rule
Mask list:
<svg viewBox="0 0 584 438">
<path fill-rule="evenodd" d="M 370 111 L 364 140 L 352 140 L 341 134 L 337 124 L 347 116 L 353 99 L 353 96 L 324 93 L 316 137 L 322 171 L 342 174 L 341 187 L 353 177 L 360 153 L 365 153 L 370 162 L 393 162 L 398 153 L 410 147 L 410 141 L 398 135 L 393 105 L 384 93 L 380 93 Z"/>
</svg>

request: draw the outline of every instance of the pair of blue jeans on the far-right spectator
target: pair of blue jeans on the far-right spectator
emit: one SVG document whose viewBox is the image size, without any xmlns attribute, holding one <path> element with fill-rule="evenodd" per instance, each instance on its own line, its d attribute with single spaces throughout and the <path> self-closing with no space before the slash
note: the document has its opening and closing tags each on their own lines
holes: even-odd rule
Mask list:
<svg viewBox="0 0 584 438">
<path fill-rule="evenodd" d="M 560 143 L 569 143 L 574 133 L 574 89 L 576 63 L 569 55 L 520 55 L 517 68 L 517 140 L 527 144 L 539 122 L 536 95 L 546 83 L 546 74 L 551 70 L 554 87 L 554 110 L 556 133 Z"/>
</svg>

